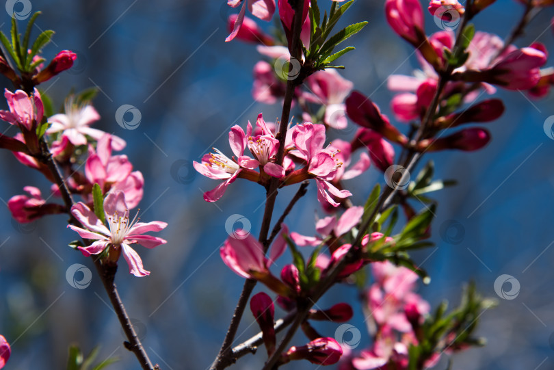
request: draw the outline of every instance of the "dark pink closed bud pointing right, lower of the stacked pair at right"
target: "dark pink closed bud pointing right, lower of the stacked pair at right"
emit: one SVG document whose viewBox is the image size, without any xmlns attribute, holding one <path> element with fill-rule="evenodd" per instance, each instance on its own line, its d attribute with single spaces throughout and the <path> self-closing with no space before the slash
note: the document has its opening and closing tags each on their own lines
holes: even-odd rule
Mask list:
<svg viewBox="0 0 554 370">
<path fill-rule="evenodd" d="M 479 150 L 490 141 L 490 133 L 479 127 L 464 129 L 438 140 L 427 139 L 417 144 L 418 150 L 436 151 L 444 149 L 459 149 L 465 151 Z"/>
</svg>

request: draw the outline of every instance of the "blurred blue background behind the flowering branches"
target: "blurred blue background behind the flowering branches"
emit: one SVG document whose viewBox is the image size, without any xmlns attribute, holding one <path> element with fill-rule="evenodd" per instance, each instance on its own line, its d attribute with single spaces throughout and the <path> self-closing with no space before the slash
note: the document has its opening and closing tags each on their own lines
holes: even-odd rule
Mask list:
<svg viewBox="0 0 554 370">
<path fill-rule="evenodd" d="M 320 1 L 320 7 L 328 8 L 328 3 Z M 386 89 L 386 78 L 393 72 L 409 75 L 418 65 L 412 48 L 386 25 L 383 3 L 357 0 L 352 5 L 341 24 L 369 25 L 348 41 L 357 49 L 340 63 L 346 66 L 341 74 L 391 116 L 388 104 L 393 95 Z M 56 31 L 44 49 L 47 60 L 62 49 L 78 55 L 71 70 L 41 87 L 53 97 L 56 109 L 72 88 L 101 89 L 94 105 L 102 120 L 95 127 L 124 138 L 123 153 L 144 174 L 142 220 L 169 223 L 159 235 L 168 240 L 166 245 L 136 248 L 152 274 L 135 278 L 123 264 L 116 277 L 146 351 L 162 369 L 207 369 L 243 284 L 217 252 L 228 236 L 225 222 L 231 215 L 242 215 L 257 234 L 265 191 L 237 181 L 221 200 L 207 203 L 202 192 L 217 182 L 197 174 L 191 163 L 213 146 L 230 153 L 227 133 L 233 124 L 245 127 L 260 112 L 266 120 L 280 116 L 280 107 L 256 103 L 250 94 L 252 66 L 261 57 L 250 44 L 224 42 L 226 18 L 236 10 L 223 0 L 33 0 L 32 11 L 36 10 L 43 14 L 34 34 L 40 29 Z M 503 38 L 522 10 L 516 1 L 499 0 L 475 24 Z M 546 8 L 516 44 L 523 47 L 538 39 L 553 49 L 553 15 L 553 8 Z M 427 32 L 438 31 L 432 16 L 426 11 L 425 16 Z M 0 29 L 6 34 L 10 21 L 3 13 Z M 267 31 L 273 27 L 259 24 Z M 11 88 L 5 80 L 3 86 Z M 432 194 L 439 204 L 432 237 L 436 247 L 414 254 L 432 282 L 418 292 L 432 306 L 443 299 L 456 305 L 464 282 L 473 279 L 479 291 L 499 300 L 497 308 L 481 317 L 479 334 L 488 345 L 456 355 L 453 369 L 552 369 L 554 141 L 544 133 L 543 123 L 554 114 L 554 96 L 529 101 L 519 92 L 503 90 L 497 96 L 507 109 L 501 119 L 488 124 L 493 140 L 486 148 L 426 156 L 435 161 L 438 178 L 455 179 L 459 185 Z M 142 120 L 133 130 L 115 120 L 124 104 L 140 110 Z M 343 133 L 330 133 L 330 139 L 353 133 L 349 124 Z M 23 194 L 25 185 L 49 194 L 49 183 L 5 150 L 0 152 L 0 174 L 3 203 Z M 382 173 L 371 168 L 347 183 L 354 203 L 362 204 L 376 182 L 384 184 Z M 308 189 L 287 224 L 312 235 L 315 213 L 324 213 L 315 184 Z M 275 215 L 295 190 L 280 191 Z M 90 286 L 75 289 L 66 280 L 66 270 L 74 263 L 94 272 L 90 259 L 68 248 L 76 235 L 66 229 L 66 216 L 19 225 L 8 207 L 0 205 L 0 333 L 12 343 L 6 368 L 65 369 L 68 345 L 78 343 L 83 352 L 101 345 L 98 360 L 118 357 L 110 369 L 136 369 L 134 356 L 122 346 L 124 336 L 101 281 L 93 274 Z M 280 267 L 289 258 L 285 254 Z M 502 274 L 520 282 L 515 299 L 503 300 L 494 292 L 494 281 Z M 362 332 L 359 350 L 369 341 L 357 299 L 356 289 L 341 285 L 319 306 L 352 302 L 356 314 L 350 322 Z M 252 322 L 247 313 L 236 343 L 257 332 Z M 321 328 L 332 336 L 335 326 Z M 292 344 L 304 343 L 299 334 Z M 260 369 L 264 353 L 243 358 L 237 368 Z M 446 366 L 443 359 L 437 369 Z M 296 362 L 289 368 L 317 366 Z"/>
</svg>

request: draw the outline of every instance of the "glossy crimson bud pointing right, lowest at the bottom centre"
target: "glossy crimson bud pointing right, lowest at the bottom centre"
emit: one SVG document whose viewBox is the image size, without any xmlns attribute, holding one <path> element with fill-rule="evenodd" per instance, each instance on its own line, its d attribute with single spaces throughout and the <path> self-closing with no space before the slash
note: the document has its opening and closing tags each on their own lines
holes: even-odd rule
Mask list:
<svg viewBox="0 0 554 370">
<path fill-rule="evenodd" d="M 285 355 L 288 360 L 308 360 L 317 365 L 333 365 L 339 362 L 343 349 L 332 338 L 318 338 L 302 347 L 291 347 Z"/>
</svg>

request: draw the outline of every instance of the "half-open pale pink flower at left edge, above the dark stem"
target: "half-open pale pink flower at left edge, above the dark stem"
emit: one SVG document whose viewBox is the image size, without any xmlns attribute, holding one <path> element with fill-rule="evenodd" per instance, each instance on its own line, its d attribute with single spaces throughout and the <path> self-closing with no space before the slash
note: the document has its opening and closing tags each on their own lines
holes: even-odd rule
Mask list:
<svg viewBox="0 0 554 370">
<path fill-rule="evenodd" d="M 10 124 L 15 124 L 22 130 L 35 130 L 36 125 L 42 121 L 42 115 L 44 114 L 44 107 L 38 90 L 35 89 L 34 94 L 29 96 L 23 90 L 12 93 L 5 89 L 4 96 L 8 101 L 10 111 L 0 111 L 0 118 Z"/>
</svg>

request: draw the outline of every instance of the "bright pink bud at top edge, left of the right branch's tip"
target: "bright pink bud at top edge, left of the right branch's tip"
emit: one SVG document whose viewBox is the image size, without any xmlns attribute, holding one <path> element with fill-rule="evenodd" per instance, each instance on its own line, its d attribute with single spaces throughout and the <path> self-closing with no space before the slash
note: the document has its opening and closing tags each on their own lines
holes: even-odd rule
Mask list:
<svg viewBox="0 0 554 370">
<path fill-rule="evenodd" d="M 386 21 L 402 38 L 416 47 L 421 43 L 423 33 L 423 8 L 419 0 L 386 0 Z"/>
</svg>

